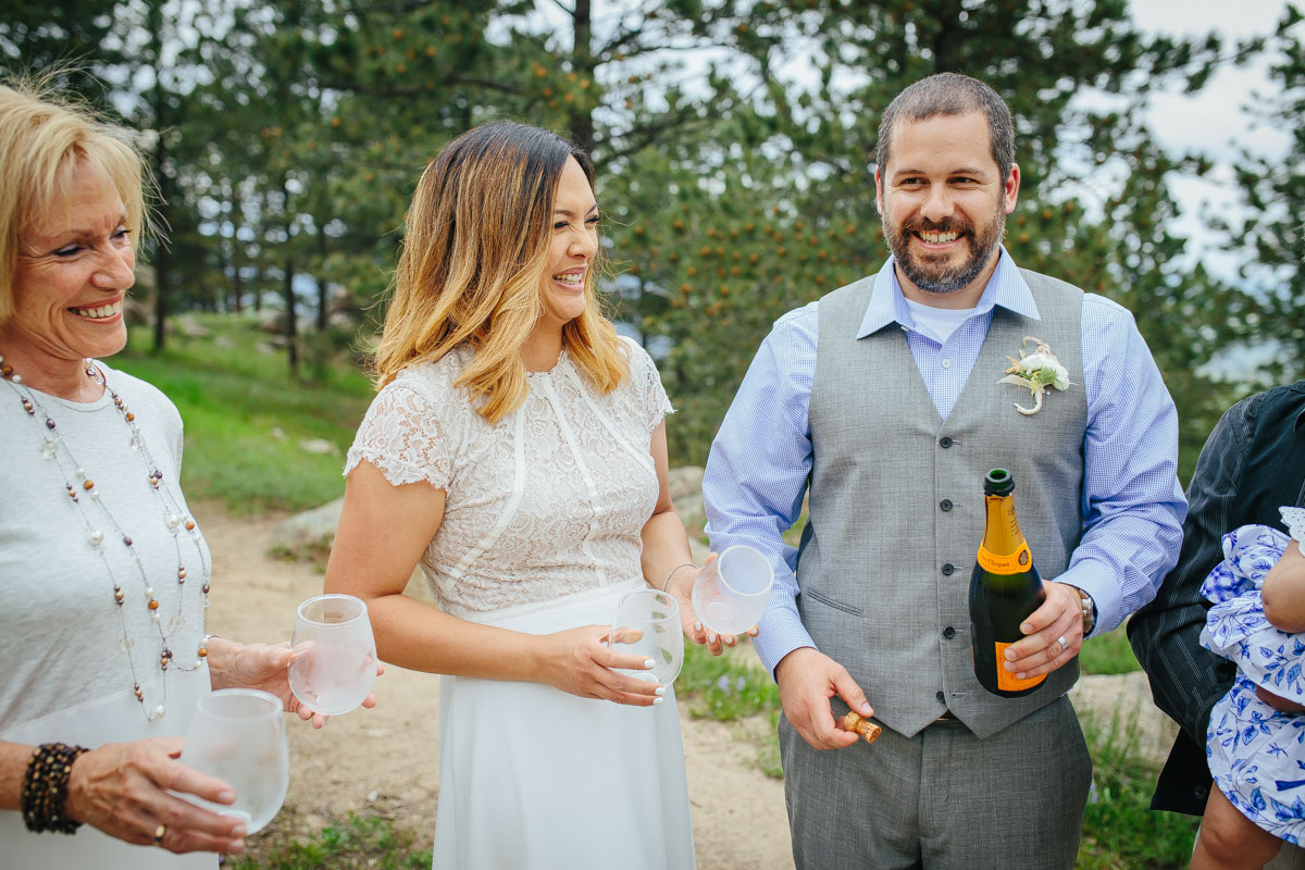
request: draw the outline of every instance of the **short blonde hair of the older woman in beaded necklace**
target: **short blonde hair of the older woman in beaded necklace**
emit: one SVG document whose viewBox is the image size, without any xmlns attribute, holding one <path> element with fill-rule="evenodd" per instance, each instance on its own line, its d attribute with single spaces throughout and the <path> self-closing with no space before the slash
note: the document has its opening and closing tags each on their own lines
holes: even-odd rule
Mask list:
<svg viewBox="0 0 1305 870">
<path fill-rule="evenodd" d="M 133 244 L 149 228 L 147 173 L 130 134 L 59 91 L 60 70 L 0 83 L 0 326 L 13 317 L 22 235 L 68 192 L 80 160 L 97 168 L 127 206 Z"/>
</svg>

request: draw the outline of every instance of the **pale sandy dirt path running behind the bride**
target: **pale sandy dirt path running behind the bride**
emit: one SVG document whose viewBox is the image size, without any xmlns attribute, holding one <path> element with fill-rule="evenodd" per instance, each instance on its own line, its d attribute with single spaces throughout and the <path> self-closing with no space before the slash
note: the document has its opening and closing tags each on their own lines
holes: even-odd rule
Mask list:
<svg viewBox="0 0 1305 870">
<path fill-rule="evenodd" d="M 228 518 L 215 505 L 196 515 L 213 549 L 209 631 L 288 639 L 295 608 L 321 592 L 321 574 L 265 556 L 277 518 Z M 376 683 L 376 710 L 333 719 L 320 732 L 294 723 L 290 794 L 278 822 L 312 831 L 350 810 L 375 811 L 429 848 L 440 790 L 436 685 L 429 674 L 389 668 Z M 753 745 L 735 738 L 741 728 L 690 720 L 683 706 L 681 727 L 698 867 L 791 869 L 783 784 L 753 767 Z"/>
</svg>

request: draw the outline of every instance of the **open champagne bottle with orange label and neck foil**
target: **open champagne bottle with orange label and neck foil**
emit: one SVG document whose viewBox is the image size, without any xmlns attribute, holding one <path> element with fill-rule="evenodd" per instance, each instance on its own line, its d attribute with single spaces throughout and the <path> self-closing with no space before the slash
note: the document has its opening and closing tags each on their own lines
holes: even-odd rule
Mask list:
<svg viewBox="0 0 1305 870">
<path fill-rule="evenodd" d="M 970 579 L 970 627 L 975 676 L 994 695 L 1014 698 L 1036 690 L 1047 674 L 1018 678 L 1006 670 L 1006 647 L 1023 638 L 1019 625 L 1047 597 L 1028 541 L 1015 518 L 1015 481 L 993 468 L 983 481 L 987 520 Z"/>
</svg>

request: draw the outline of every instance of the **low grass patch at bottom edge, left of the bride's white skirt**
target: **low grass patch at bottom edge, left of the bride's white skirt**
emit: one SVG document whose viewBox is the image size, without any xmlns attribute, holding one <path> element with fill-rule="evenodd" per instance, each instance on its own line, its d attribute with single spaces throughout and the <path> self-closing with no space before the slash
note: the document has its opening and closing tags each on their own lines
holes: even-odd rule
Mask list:
<svg viewBox="0 0 1305 870">
<path fill-rule="evenodd" d="M 425 870 L 431 852 L 416 835 L 378 815 L 348 818 L 296 839 L 275 824 L 249 841 L 249 850 L 223 865 L 228 870 Z"/>
</svg>

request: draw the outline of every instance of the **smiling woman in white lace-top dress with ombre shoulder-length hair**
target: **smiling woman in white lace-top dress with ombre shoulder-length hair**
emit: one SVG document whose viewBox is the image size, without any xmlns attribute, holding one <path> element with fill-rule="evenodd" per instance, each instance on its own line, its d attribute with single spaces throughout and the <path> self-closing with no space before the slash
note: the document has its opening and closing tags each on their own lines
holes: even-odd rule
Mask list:
<svg viewBox="0 0 1305 870">
<path fill-rule="evenodd" d="M 326 591 L 367 600 L 385 661 L 444 674 L 440 870 L 694 863 L 675 695 L 606 644 L 620 596 L 667 582 L 707 638 L 667 492 L 672 408 L 599 312 L 598 215 L 587 157 L 549 132 L 445 147 L 348 453 Z M 418 562 L 438 609 L 402 595 Z"/>
</svg>

